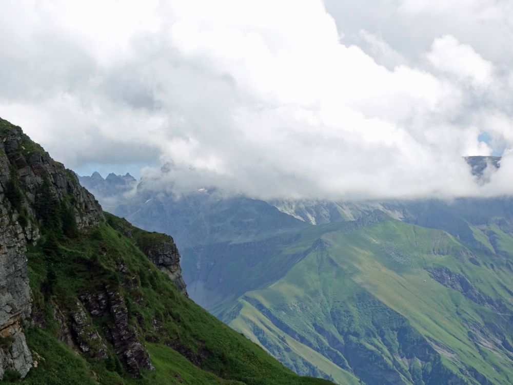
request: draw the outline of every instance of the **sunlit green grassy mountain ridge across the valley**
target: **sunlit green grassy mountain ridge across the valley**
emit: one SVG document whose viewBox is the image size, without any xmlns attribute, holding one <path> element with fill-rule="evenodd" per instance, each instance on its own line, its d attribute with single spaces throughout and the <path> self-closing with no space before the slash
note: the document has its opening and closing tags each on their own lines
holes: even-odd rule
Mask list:
<svg viewBox="0 0 513 385">
<path fill-rule="evenodd" d="M 283 247 L 284 258 L 298 248 L 309 254 L 222 317 L 298 373 L 339 383 L 513 382 L 505 254 L 472 251 L 443 230 L 392 219 L 333 226 Z M 509 251 L 513 238 L 491 230 L 492 243 Z"/>
</svg>

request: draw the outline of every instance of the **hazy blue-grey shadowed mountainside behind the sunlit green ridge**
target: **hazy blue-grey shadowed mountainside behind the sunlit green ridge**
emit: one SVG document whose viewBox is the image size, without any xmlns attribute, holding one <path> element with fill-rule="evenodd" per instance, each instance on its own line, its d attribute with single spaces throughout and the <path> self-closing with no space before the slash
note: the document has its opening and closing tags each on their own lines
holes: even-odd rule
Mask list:
<svg viewBox="0 0 513 385">
<path fill-rule="evenodd" d="M 272 253 L 266 253 L 271 244 L 308 227 L 266 202 L 244 197 L 220 199 L 216 192 L 204 191 L 180 200 L 145 193 L 114 212 L 143 228 L 174 234 L 183 261 L 189 266 L 184 269 L 189 293 L 202 306 L 213 305 L 214 297 L 234 298 L 244 288 L 260 285 L 261 280 L 250 273 L 254 265 L 261 266 L 261 279 L 272 277 L 267 272 Z M 212 256 L 223 258 L 224 263 L 214 262 Z M 238 274 L 239 270 L 247 274 Z"/>
</svg>

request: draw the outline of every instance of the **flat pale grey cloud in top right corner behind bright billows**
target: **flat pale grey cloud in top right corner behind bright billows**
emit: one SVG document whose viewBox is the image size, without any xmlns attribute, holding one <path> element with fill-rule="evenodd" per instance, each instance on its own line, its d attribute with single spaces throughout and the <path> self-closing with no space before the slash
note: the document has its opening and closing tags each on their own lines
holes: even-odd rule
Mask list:
<svg viewBox="0 0 513 385">
<path fill-rule="evenodd" d="M 433 40 L 455 36 L 485 60 L 509 66 L 513 60 L 513 3 L 509 0 L 326 0 L 346 43 L 359 31 L 381 35 L 407 59 L 422 66 Z"/>
</svg>

